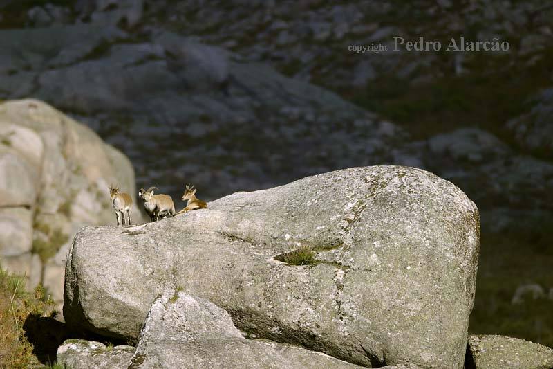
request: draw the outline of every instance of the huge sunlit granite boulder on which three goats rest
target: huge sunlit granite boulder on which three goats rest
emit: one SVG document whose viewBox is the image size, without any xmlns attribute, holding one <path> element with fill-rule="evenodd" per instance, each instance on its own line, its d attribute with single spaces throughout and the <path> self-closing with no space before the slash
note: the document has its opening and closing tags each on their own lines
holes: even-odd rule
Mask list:
<svg viewBox="0 0 553 369">
<path fill-rule="evenodd" d="M 156 296 L 179 288 L 250 336 L 364 366 L 461 368 L 479 232 L 472 201 L 424 170 L 319 174 L 154 224 L 83 228 L 64 317 L 136 338 Z M 287 257 L 297 249 L 303 262 Z"/>
</svg>

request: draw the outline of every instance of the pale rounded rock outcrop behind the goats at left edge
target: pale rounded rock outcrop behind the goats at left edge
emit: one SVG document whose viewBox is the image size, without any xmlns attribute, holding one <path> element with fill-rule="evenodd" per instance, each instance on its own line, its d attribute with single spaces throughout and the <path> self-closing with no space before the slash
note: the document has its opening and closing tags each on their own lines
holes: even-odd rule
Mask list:
<svg viewBox="0 0 553 369">
<path fill-rule="evenodd" d="M 91 129 L 38 100 L 0 104 L 1 266 L 62 300 L 73 235 L 115 222 L 111 183 L 135 193 L 133 167 Z"/>
</svg>

